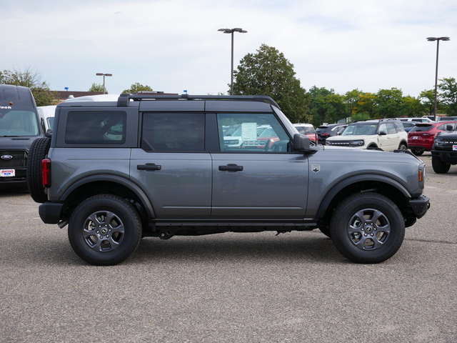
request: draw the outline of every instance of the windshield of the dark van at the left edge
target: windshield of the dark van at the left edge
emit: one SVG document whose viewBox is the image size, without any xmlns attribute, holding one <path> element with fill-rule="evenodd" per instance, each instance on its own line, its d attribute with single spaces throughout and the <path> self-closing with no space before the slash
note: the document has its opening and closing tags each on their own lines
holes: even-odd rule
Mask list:
<svg viewBox="0 0 457 343">
<path fill-rule="evenodd" d="M 36 112 L 31 107 L 0 109 L 0 136 L 37 136 L 39 134 Z"/>
</svg>

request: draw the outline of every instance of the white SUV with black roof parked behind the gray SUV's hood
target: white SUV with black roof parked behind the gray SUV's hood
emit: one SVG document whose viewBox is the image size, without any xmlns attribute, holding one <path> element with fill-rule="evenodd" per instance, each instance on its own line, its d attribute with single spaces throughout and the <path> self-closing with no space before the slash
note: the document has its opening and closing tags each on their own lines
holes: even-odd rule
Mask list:
<svg viewBox="0 0 457 343">
<path fill-rule="evenodd" d="M 326 145 L 380 148 L 384 151 L 406 150 L 408 134 L 401 121 L 396 119 L 354 121 L 340 136 L 329 137 Z"/>
</svg>

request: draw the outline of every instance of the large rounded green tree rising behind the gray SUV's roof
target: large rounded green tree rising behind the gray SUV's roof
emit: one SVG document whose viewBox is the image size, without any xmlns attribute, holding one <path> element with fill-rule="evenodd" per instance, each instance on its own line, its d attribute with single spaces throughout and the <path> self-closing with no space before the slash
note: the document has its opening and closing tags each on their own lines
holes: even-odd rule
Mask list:
<svg viewBox="0 0 457 343">
<path fill-rule="evenodd" d="M 309 122 L 309 96 L 296 79 L 293 64 L 277 49 L 261 44 L 234 71 L 233 94 L 263 94 L 273 98 L 293 123 Z"/>
</svg>

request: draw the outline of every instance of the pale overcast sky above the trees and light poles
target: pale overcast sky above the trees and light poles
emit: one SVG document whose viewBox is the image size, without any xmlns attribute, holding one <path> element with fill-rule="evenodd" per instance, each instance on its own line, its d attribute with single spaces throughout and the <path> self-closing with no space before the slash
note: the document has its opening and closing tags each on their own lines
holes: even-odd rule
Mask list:
<svg viewBox="0 0 457 343">
<path fill-rule="evenodd" d="M 36 69 L 51 90 L 131 84 L 181 94 L 227 94 L 234 64 L 261 44 L 290 61 L 301 86 L 418 96 L 457 79 L 456 0 L 1 1 L 0 70 Z"/>
</svg>

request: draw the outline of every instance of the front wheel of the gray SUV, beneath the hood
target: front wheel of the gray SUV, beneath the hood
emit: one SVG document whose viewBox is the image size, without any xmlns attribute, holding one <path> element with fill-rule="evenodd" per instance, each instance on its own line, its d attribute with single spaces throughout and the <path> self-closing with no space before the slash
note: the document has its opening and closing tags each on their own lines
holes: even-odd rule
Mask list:
<svg viewBox="0 0 457 343">
<path fill-rule="evenodd" d="M 400 249 L 405 224 L 400 209 L 381 194 L 353 194 L 333 212 L 333 244 L 344 257 L 358 263 L 379 263 Z"/>
</svg>

